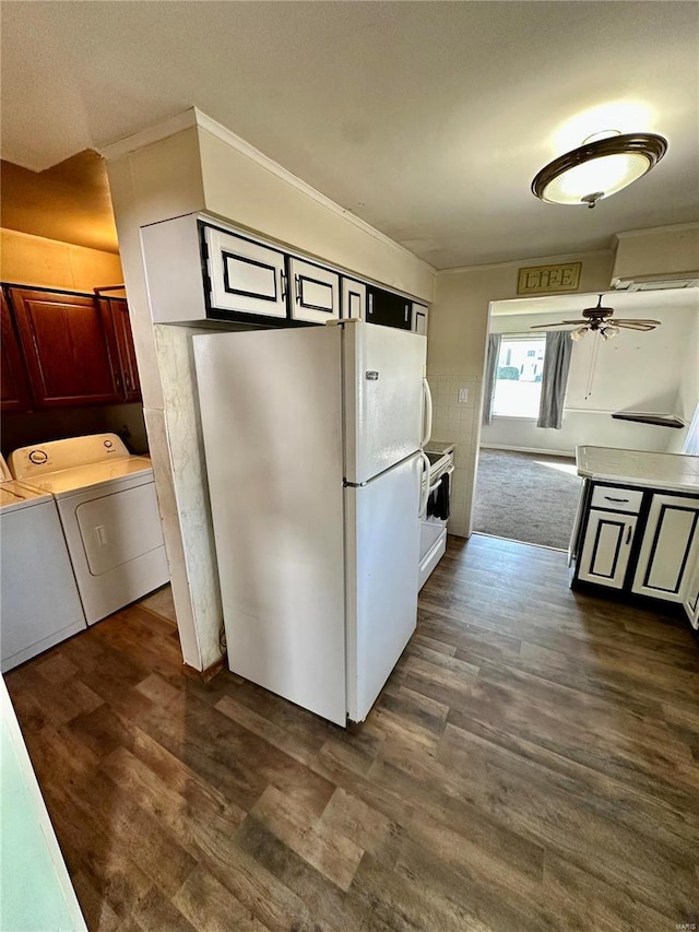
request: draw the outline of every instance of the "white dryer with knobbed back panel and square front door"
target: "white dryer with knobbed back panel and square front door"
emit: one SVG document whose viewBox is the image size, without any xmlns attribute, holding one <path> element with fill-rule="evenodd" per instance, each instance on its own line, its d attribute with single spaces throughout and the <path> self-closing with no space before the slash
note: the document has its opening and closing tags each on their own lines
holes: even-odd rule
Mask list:
<svg viewBox="0 0 699 932">
<path fill-rule="evenodd" d="M 22 447 L 10 471 L 54 495 L 88 625 L 169 580 L 151 460 L 116 434 Z"/>
</svg>

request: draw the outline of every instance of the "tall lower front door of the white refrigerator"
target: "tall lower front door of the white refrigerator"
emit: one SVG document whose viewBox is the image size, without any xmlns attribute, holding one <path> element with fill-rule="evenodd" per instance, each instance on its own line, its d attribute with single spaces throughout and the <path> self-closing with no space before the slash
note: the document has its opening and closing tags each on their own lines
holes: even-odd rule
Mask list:
<svg viewBox="0 0 699 932">
<path fill-rule="evenodd" d="M 347 710 L 364 721 L 415 630 L 420 457 L 345 488 Z"/>
</svg>

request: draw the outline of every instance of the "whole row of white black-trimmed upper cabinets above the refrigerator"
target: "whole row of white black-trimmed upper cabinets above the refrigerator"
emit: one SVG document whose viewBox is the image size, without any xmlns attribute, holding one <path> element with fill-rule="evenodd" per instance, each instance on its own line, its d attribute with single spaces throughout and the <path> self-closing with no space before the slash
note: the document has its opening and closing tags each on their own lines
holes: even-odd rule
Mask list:
<svg viewBox="0 0 699 932">
<path fill-rule="evenodd" d="M 141 227 L 154 323 L 293 327 L 358 318 L 425 333 L 427 307 L 202 214 Z"/>
</svg>

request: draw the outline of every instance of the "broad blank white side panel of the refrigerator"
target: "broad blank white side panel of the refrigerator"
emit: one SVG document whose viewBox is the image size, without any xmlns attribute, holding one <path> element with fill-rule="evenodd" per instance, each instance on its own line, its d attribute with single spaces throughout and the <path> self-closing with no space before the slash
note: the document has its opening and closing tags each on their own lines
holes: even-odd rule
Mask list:
<svg viewBox="0 0 699 932">
<path fill-rule="evenodd" d="M 340 328 L 193 343 L 228 664 L 344 725 Z"/>
</svg>

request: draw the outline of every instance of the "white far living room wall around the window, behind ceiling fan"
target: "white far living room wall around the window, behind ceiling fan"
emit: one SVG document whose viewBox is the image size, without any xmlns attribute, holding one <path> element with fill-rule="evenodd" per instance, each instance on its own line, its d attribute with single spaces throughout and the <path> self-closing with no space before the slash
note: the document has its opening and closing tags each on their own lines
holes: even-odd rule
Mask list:
<svg viewBox="0 0 699 932">
<path fill-rule="evenodd" d="M 628 316 L 631 315 L 627 311 L 619 315 Z M 668 450 L 672 445 L 682 449 L 686 429 L 635 424 L 611 416 L 615 411 L 630 409 L 673 413 L 689 421 L 697 402 L 699 309 L 696 306 L 667 309 L 659 292 L 657 304 L 644 305 L 641 316 L 660 320 L 661 326 L 647 333 L 620 330 L 609 341 L 588 334 L 573 343 L 560 430 L 537 427 L 534 420 L 496 416 L 493 424 L 483 427 L 481 445 L 568 453 L 578 444 L 660 451 Z M 535 331 L 529 329 L 531 326 L 560 319 L 560 314 L 494 315 L 490 330 L 532 333 Z M 694 366 L 688 356 L 694 356 Z"/>
</svg>

